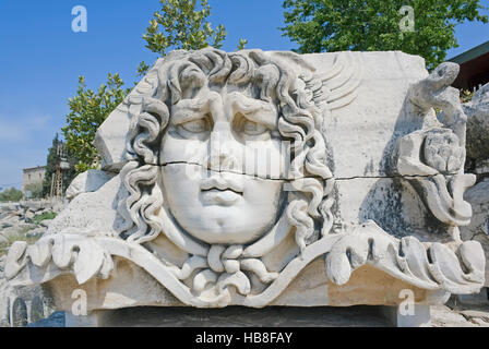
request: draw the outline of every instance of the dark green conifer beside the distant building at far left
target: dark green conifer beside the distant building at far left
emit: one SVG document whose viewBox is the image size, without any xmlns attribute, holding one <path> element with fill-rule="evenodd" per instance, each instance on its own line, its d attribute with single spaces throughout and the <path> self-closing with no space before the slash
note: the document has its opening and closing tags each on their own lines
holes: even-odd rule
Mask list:
<svg viewBox="0 0 489 349">
<path fill-rule="evenodd" d="M 64 146 L 63 142 L 59 140 L 57 133 L 55 139 L 52 139 L 52 146 L 49 148 L 46 159 L 46 174 L 43 182 L 43 196 L 47 196 L 51 192 L 52 176 L 56 174 L 56 167 L 58 161 L 58 145 L 63 147 L 64 156 L 70 164 L 70 168 L 62 171 L 63 190 L 65 190 L 71 181 L 76 177 L 75 166 L 79 164 L 79 161 L 76 157 L 73 156 L 73 152 Z"/>
</svg>

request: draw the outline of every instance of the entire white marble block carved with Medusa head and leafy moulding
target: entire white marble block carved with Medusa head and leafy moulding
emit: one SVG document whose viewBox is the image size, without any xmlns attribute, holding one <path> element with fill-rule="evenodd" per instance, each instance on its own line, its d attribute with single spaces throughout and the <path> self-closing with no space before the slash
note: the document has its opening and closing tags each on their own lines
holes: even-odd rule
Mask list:
<svg viewBox="0 0 489 349">
<path fill-rule="evenodd" d="M 402 52 L 176 51 L 97 133 L 118 173 L 80 178 L 5 275 L 46 282 L 60 310 L 83 289 L 94 312 L 478 292 L 457 72 Z"/>
</svg>

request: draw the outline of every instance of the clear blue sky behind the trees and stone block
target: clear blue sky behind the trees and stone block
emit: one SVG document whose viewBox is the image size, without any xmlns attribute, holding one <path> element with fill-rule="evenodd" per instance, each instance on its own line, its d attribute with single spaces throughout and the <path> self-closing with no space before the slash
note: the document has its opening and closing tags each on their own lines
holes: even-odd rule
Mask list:
<svg viewBox="0 0 489 349">
<path fill-rule="evenodd" d="M 228 33 L 223 49 L 235 50 L 240 37 L 247 48 L 295 48 L 278 29 L 282 3 L 210 0 L 212 24 L 224 24 Z M 481 3 L 489 7 L 489 0 Z M 71 29 L 71 9 L 79 4 L 87 9 L 87 33 Z M 23 168 L 45 165 L 79 75 L 92 88 L 108 72 L 132 85 L 139 62 L 156 59 L 142 35 L 158 8 L 158 0 L 0 0 L 0 188 L 20 188 Z M 460 25 L 456 37 L 461 47 L 449 58 L 489 40 L 489 25 Z"/>
</svg>

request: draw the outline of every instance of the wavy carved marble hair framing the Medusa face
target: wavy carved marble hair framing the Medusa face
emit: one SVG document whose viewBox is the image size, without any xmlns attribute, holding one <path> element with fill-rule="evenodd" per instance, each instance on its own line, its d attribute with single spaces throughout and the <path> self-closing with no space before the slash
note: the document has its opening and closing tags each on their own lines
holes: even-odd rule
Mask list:
<svg viewBox="0 0 489 349">
<path fill-rule="evenodd" d="M 329 233 L 333 225 L 334 180 L 327 166 L 330 152 L 321 132 L 327 112 L 322 82 L 312 73 L 298 76 L 281 58 L 261 50 L 227 53 L 206 48 L 175 51 L 166 60 L 158 60 L 128 96 L 132 119 L 128 164 L 121 176 L 129 197 L 119 205 L 126 221 L 121 236 L 144 243 L 162 231 L 157 214 L 164 196 L 157 185 L 159 174 L 155 165 L 170 118 L 169 108 L 180 99 L 191 98 L 192 91 L 205 84 L 237 85 L 254 98 L 278 107 L 278 132 L 291 141 L 288 174 L 295 190 L 288 193 L 285 214 L 296 227 L 296 242 L 302 251 L 319 232 Z"/>
</svg>

